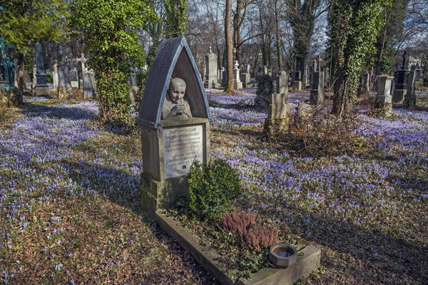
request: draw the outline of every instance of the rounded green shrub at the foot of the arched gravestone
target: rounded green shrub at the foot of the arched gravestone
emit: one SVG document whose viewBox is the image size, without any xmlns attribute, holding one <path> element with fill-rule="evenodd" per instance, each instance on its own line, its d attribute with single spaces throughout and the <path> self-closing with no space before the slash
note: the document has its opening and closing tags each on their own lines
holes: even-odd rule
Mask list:
<svg viewBox="0 0 428 285">
<path fill-rule="evenodd" d="M 209 164 L 195 161 L 188 184 L 188 212 L 197 219 L 220 218 L 228 210 L 230 201 L 242 193 L 238 173 L 222 159 Z"/>
</svg>

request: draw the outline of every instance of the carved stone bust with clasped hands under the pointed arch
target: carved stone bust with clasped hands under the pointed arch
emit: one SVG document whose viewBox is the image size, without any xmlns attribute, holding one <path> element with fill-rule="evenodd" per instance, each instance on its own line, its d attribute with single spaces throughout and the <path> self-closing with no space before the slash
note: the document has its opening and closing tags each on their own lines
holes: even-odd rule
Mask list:
<svg viewBox="0 0 428 285">
<path fill-rule="evenodd" d="M 170 86 L 165 97 L 162 109 L 162 119 L 184 120 L 192 117 L 190 105 L 185 96 L 185 81 L 180 78 L 174 78 L 170 81 Z"/>
</svg>

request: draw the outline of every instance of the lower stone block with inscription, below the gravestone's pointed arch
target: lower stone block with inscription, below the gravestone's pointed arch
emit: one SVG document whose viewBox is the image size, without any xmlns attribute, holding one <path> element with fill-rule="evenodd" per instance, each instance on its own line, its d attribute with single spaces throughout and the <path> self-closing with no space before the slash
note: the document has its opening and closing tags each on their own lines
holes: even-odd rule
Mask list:
<svg viewBox="0 0 428 285">
<path fill-rule="evenodd" d="M 187 174 L 195 154 L 201 156 L 201 163 L 209 161 L 209 134 L 210 123 L 204 118 L 161 121 L 158 129 L 141 126 L 141 207 L 149 215 L 158 209 L 168 209 L 187 194 Z M 183 175 L 175 171 L 182 171 Z"/>
</svg>

